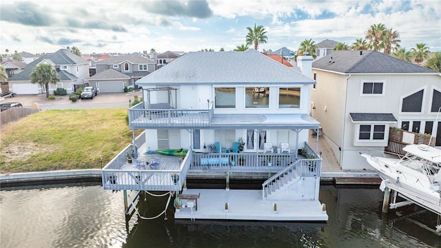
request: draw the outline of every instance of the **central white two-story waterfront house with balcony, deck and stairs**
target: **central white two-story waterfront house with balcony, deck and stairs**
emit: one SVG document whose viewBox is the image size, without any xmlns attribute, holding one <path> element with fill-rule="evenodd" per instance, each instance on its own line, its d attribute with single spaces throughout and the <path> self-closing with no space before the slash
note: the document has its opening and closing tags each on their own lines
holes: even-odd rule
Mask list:
<svg viewBox="0 0 441 248">
<path fill-rule="evenodd" d="M 298 58 L 309 74 L 311 63 L 311 56 Z M 104 189 L 178 191 L 187 176 L 226 178 L 228 187 L 230 177 L 260 176 L 267 178 L 263 199 L 318 203 L 321 158 L 318 147 L 307 143 L 309 130 L 320 127 L 309 116 L 314 80 L 247 50 L 189 52 L 138 83 L 143 102 L 130 108 L 129 127 L 134 134 L 145 132 L 127 151 L 134 149 L 142 169 L 132 172 L 126 150 L 121 152 L 103 169 Z M 183 158 L 162 157 L 159 167 L 144 166 L 154 162 L 157 149 L 182 148 L 188 149 Z M 118 183 L 111 183 L 112 174 L 122 177 Z M 176 184 L 171 174 L 178 174 Z"/>
</svg>

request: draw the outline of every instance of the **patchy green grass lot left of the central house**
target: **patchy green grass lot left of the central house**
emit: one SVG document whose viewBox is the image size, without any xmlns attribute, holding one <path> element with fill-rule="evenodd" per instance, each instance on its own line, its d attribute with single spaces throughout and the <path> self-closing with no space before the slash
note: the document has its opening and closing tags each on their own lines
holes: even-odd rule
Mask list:
<svg viewBox="0 0 441 248">
<path fill-rule="evenodd" d="M 0 173 L 101 168 L 132 143 L 127 109 L 46 110 L 0 127 Z"/>
</svg>

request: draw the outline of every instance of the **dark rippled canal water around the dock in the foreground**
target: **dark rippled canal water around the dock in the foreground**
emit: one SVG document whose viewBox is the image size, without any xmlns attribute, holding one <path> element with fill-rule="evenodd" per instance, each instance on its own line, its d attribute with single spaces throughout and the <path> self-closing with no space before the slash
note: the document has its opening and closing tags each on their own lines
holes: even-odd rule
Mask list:
<svg viewBox="0 0 441 248">
<path fill-rule="evenodd" d="M 123 193 L 101 185 L 2 189 L 0 247 L 441 247 L 435 214 L 415 206 L 382 214 L 378 188 L 322 185 L 320 201 L 327 223 L 192 222 L 174 220 L 172 204 L 166 220 L 125 218 Z M 166 203 L 141 194 L 136 206 L 147 218 Z"/>
</svg>

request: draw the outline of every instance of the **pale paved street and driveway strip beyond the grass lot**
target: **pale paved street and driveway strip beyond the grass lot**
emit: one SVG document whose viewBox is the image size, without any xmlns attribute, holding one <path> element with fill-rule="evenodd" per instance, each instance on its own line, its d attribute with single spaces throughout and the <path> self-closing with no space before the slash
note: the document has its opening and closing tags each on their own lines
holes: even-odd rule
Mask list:
<svg viewBox="0 0 441 248">
<path fill-rule="evenodd" d="M 141 97 L 141 90 L 130 93 L 99 93 L 94 99 L 83 99 L 72 103 L 67 96 L 57 96 L 55 100 L 46 99 L 46 94 L 38 95 L 16 95 L 0 99 L 0 103 L 19 102 L 23 107 L 32 107 L 33 103 L 39 105 L 40 110 L 68 110 L 68 109 L 87 109 L 87 108 L 111 108 L 129 107 L 129 100 Z"/>
</svg>

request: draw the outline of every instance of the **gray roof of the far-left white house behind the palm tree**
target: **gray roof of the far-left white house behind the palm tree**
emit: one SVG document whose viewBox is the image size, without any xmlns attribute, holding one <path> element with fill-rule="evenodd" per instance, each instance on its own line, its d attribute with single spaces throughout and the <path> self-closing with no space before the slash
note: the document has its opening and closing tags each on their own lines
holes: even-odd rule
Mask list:
<svg viewBox="0 0 441 248">
<path fill-rule="evenodd" d="M 54 63 L 55 65 L 83 65 L 83 64 L 87 65 L 88 64 L 88 61 L 81 59 L 80 56 L 76 56 L 75 54 L 72 54 L 72 52 L 70 52 L 69 50 L 60 49 L 57 52 L 44 54 L 43 56 L 40 56 L 38 59 L 32 61 L 31 63 L 28 63 L 28 65 L 26 65 L 25 70 L 23 70 L 23 72 L 20 72 L 19 74 L 12 76 L 8 81 L 30 81 L 30 74 L 32 73 L 32 70 L 34 70 L 35 66 L 37 66 L 43 60 L 50 61 L 50 63 Z"/>
</svg>

